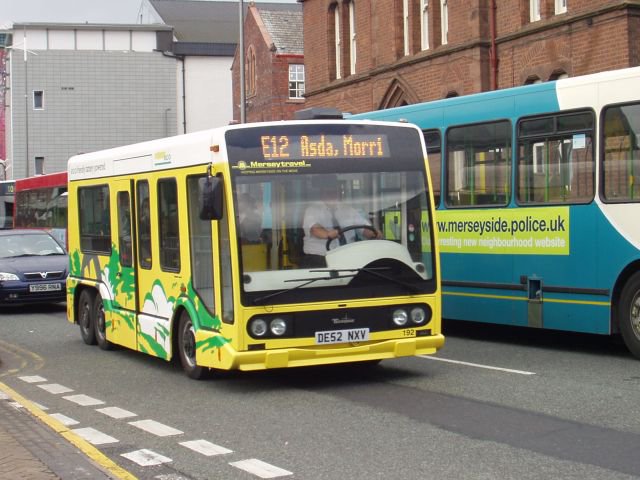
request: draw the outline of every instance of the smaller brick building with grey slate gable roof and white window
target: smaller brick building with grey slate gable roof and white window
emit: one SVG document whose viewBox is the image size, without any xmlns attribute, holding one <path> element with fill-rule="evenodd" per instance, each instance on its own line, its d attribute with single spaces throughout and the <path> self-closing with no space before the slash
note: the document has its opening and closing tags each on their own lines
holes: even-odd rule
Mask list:
<svg viewBox="0 0 640 480">
<path fill-rule="evenodd" d="M 247 122 L 287 120 L 304 108 L 302 7 L 251 4 L 244 21 Z M 233 118 L 240 119 L 239 52 L 233 60 Z"/>
</svg>

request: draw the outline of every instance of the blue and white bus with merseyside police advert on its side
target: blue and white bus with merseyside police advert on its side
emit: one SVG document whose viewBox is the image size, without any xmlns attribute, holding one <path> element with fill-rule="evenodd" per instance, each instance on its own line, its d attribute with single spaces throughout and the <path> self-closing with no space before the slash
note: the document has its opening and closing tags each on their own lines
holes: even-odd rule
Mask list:
<svg viewBox="0 0 640 480">
<path fill-rule="evenodd" d="M 639 86 L 637 67 L 354 115 L 424 132 L 443 318 L 620 333 L 640 357 Z"/>
</svg>

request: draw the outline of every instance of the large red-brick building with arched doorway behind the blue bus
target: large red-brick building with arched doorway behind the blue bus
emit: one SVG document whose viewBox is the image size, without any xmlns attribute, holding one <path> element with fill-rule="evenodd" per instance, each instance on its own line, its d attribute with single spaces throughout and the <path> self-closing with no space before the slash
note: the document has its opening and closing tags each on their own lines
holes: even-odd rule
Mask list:
<svg viewBox="0 0 640 480">
<path fill-rule="evenodd" d="M 640 65 L 637 0 L 301 0 L 307 106 L 358 113 Z"/>
</svg>

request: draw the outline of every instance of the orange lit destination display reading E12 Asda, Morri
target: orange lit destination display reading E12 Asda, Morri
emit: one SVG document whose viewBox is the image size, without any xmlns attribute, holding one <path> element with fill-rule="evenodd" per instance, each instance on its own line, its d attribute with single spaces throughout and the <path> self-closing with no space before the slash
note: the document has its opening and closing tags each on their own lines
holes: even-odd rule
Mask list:
<svg viewBox="0 0 640 480">
<path fill-rule="evenodd" d="M 313 158 L 388 158 L 384 134 L 363 135 L 262 135 L 264 160 Z"/>
</svg>

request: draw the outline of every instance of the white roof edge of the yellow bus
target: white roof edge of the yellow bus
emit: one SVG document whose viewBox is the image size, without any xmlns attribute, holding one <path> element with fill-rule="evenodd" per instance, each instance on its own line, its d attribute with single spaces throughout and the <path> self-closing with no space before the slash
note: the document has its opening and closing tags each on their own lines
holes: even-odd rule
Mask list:
<svg viewBox="0 0 640 480">
<path fill-rule="evenodd" d="M 69 159 L 69 180 L 127 175 L 170 168 L 223 163 L 226 159 L 225 133 L 229 130 L 305 124 L 368 124 L 416 128 L 393 122 L 367 120 L 290 120 L 228 125 L 210 130 L 161 138 L 122 147 L 73 156 Z M 218 152 L 218 153 L 214 153 Z"/>
</svg>

